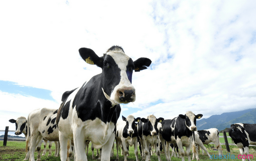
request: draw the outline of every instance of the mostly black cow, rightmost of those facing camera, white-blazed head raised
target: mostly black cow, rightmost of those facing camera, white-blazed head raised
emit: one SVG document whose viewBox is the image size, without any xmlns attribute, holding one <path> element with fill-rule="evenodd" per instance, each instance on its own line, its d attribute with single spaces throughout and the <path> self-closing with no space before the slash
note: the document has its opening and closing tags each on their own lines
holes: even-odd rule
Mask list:
<svg viewBox="0 0 256 161">
<path fill-rule="evenodd" d="M 159 123 L 157 128 L 159 129 L 159 137 L 164 144 L 166 141 L 166 147 L 163 146 L 164 153 L 166 154 L 167 161 L 171 161 L 169 149 L 170 143 L 177 143 L 180 149 L 181 159 L 184 161 L 183 146 L 186 147 L 188 161 L 190 158 L 190 148 L 192 144 L 192 131 L 196 131 L 196 119 L 201 118 L 202 114 L 194 115 L 193 112 L 188 111 L 185 115 L 179 115 L 179 117 L 172 120 L 164 120 Z M 168 151 L 168 153 L 166 152 Z"/>
</svg>

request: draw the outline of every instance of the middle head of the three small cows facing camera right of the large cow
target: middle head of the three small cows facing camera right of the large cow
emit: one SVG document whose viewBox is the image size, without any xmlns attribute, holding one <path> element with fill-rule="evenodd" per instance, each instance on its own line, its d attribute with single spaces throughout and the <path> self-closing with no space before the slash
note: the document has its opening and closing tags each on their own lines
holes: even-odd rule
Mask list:
<svg viewBox="0 0 256 161">
<path fill-rule="evenodd" d="M 157 123 L 162 122 L 164 118 L 156 118 L 154 115 L 149 115 L 146 118 L 141 118 L 141 122 L 147 123 L 150 135 L 158 135 Z"/>
</svg>

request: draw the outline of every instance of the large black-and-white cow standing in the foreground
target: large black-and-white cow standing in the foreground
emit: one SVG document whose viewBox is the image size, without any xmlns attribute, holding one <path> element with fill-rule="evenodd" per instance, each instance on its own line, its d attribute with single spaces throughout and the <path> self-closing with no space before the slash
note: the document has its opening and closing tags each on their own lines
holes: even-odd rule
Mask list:
<svg viewBox="0 0 256 161">
<path fill-rule="evenodd" d="M 151 60 L 132 61 L 119 46 L 112 46 L 102 57 L 88 48 L 80 48 L 79 53 L 85 62 L 101 67 L 102 73 L 82 87 L 64 93 L 57 116 L 61 160 L 66 161 L 62 154 L 67 153 L 62 147 L 74 138 L 78 161 L 87 160 L 84 140 L 90 140 L 96 149 L 102 148 L 101 160 L 109 161 L 121 111 L 119 104 L 134 102 L 136 98 L 132 72 L 147 69 Z"/>
</svg>

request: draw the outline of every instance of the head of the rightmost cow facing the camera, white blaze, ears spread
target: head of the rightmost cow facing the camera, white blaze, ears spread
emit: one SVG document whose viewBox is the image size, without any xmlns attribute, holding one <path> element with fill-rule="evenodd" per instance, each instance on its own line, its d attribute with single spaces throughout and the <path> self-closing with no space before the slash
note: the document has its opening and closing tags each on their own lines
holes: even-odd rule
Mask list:
<svg viewBox="0 0 256 161">
<path fill-rule="evenodd" d="M 202 114 L 195 115 L 193 112 L 187 111 L 185 115 L 180 114 L 179 117 L 185 119 L 185 124 L 190 131 L 196 131 L 196 119 L 201 118 Z"/>
</svg>

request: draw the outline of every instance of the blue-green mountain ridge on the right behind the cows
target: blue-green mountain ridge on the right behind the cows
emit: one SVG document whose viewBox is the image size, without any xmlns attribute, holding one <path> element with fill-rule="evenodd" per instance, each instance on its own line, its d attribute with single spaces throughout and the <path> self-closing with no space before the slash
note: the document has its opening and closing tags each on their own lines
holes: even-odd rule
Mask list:
<svg viewBox="0 0 256 161">
<path fill-rule="evenodd" d="M 197 130 L 217 128 L 219 131 L 230 128 L 233 123 L 256 123 L 256 108 L 212 115 L 196 121 Z"/>
</svg>

